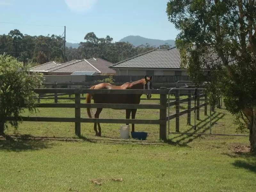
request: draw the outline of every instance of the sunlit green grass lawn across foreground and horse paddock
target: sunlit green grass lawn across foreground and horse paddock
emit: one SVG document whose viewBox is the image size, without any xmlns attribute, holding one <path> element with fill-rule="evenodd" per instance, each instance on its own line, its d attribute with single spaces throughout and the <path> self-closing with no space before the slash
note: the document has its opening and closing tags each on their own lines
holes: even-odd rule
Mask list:
<svg viewBox="0 0 256 192">
<path fill-rule="evenodd" d="M 75 114 L 72 108 L 39 110 L 37 116 Z M 81 109 L 81 116 L 87 117 L 85 112 Z M 103 109 L 100 117 L 125 118 L 125 111 Z M 158 119 L 159 111 L 138 109 L 136 118 Z M 198 131 L 208 130 L 207 118 L 200 112 Z M 231 116 L 216 122 L 227 122 L 220 130 L 234 130 L 228 126 Z M 186 126 L 180 127 L 188 131 Z M 135 131 L 148 132 L 147 140 L 121 140 L 119 127 L 101 124 L 100 138 L 93 124 L 83 123 L 80 139 L 74 123 L 23 122 L 17 134 L 9 128 L 9 137 L 0 139 L 0 191 L 255 191 L 256 157 L 248 153 L 248 137 L 170 135 L 164 143 L 159 125 L 137 124 Z"/>
</svg>

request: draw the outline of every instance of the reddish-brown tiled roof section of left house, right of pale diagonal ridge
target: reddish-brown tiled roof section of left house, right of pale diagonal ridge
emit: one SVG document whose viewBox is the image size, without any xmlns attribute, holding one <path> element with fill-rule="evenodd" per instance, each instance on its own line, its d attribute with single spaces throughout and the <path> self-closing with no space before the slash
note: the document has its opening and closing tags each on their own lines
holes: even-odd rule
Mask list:
<svg viewBox="0 0 256 192">
<path fill-rule="evenodd" d="M 115 69 L 109 68 L 113 65 L 113 63 L 106 61 L 101 58 L 92 58 L 87 60 L 91 63 L 95 68 L 97 68 L 101 73 L 116 73 Z"/>
</svg>

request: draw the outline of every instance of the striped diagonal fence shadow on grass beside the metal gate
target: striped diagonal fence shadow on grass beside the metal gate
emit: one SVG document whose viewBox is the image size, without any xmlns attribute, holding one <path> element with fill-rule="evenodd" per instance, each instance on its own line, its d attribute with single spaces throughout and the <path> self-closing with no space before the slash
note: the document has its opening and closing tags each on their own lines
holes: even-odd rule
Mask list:
<svg viewBox="0 0 256 192">
<path fill-rule="evenodd" d="M 221 118 L 223 118 L 225 116 L 225 114 L 223 113 L 217 113 L 213 112 L 212 114 L 212 122 L 211 122 L 211 126 L 218 122 Z M 210 127 L 207 126 L 209 125 L 209 120 L 210 120 L 210 116 L 207 115 L 207 118 L 205 118 L 203 121 L 200 121 L 199 123 L 196 124 L 196 131 L 200 133 L 205 133 L 207 131 L 209 131 Z M 198 121 L 198 120 L 197 120 Z M 191 127 L 188 129 L 188 133 L 191 134 L 178 134 L 177 136 L 173 137 L 172 139 L 169 139 L 169 142 L 173 142 L 173 143 L 178 143 L 179 145 L 187 145 L 188 143 L 192 142 L 193 140 L 201 137 L 201 135 L 193 135 L 191 132 L 192 130 L 194 130 L 194 126 L 191 125 Z M 196 132 L 195 132 L 196 133 Z"/>
</svg>

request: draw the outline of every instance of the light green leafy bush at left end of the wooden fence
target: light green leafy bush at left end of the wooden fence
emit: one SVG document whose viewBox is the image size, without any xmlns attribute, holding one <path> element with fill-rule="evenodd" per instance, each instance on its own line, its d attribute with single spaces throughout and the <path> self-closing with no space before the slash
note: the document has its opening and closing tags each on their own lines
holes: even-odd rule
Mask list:
<svg viewBox="0 0 256 192">
<path fill-rule="evenodd" d="M 28 67 L 6 54 L 0 55 L 0 135 L 9 122 L 18 128 L 20 114 L 28 109 L 35 111 L 38 96 L 33 89 L 42 84 L 42 74 L 28 75 Z M 12 117 L 8 120 L 8 117 Z"/>
</svg>

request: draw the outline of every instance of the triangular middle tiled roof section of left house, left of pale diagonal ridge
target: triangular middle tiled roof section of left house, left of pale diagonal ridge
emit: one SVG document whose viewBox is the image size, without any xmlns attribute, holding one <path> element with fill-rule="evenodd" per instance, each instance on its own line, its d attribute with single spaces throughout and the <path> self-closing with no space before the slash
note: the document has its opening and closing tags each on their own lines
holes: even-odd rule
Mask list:
<svg viewBox="0 0 256 192">
<path fill-rule="evenodd" d="M 57 68 L 49 69 L 50 73 L 73 73 L 75 71 L 90 71 L 100 73 L 95 67 L 93 67 L 86 60 L 76 60 L 73 62 L 67 62 L 58 66 Z"/>
</svg>

